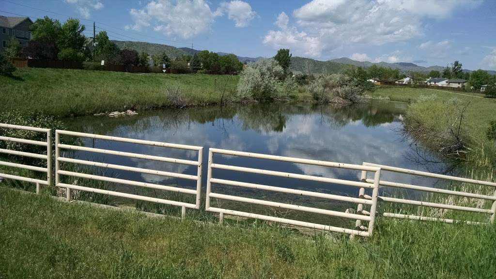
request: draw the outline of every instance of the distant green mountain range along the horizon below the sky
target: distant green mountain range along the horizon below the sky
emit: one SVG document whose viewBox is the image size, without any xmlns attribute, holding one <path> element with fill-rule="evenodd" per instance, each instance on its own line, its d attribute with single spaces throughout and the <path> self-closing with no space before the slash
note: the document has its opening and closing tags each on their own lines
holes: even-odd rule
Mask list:
<svg viewBox="0 0 496 279">
<path fill-rule="evenodd" d="M 161 54 L 163 52 L 165 52 L 171 58 L 175 58 L 183 55 L 191 55 L 191 48 L 176 48 L 173 46 L 162 45 L 162 44 L 152 44 L 152 43 L 132 42 L 132 41 L 112 41 L 112 42 L 114 42 L 121 49 L 124 48 L 133 49 L 136 50 L 138 53 L 146 52 L 150 55 Z M 192 52 L 193 54 L 196 54 L 200 51 L 193 49 Z M 227 53 L 222 53 L 222 52 L 218 52 L 217 54 L 220 56 L 227 55 Z M 238 59 L 241 62 L 255 62 L 262 58 L 264 57 L 238 56 Z M 345 67 L 345 65 L 355 65 L 360 67 L 370 67 L 372 65 L 379 65 L 382 67 L 398 69 L 403 73 L 408 73 L 411 71 L 429 73 L 432 70 L 441 72 L 444 69 L 444 67 L 441 66 L 423 67 L 409 62 L 373 63 L 369 61 L 357 61 L 347 57 L 341 57 L 327 61 L 320 61 L 320 60 L 298 57 L 298 56 L 291 57 L 290 69 L 294 72 L 302 72 L 302 73 L 306 73 L 310 69 L 310 73 L 313 74 L 332 74 L 332 73 L 341 72 L 341 70 Z M 471 72 L 472 70 L 463 69 L 463 71 Z M 490 74 L 496 74 L 496 71 L 489 70 L 488 72 Z"/>
</svg>

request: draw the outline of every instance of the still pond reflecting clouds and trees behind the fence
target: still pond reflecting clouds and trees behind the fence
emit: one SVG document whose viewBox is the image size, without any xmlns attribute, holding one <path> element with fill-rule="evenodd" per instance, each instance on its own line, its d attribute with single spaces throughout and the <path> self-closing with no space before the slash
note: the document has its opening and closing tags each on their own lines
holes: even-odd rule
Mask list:
<svg viewBox="0 0 496 279">
<path fill-rule="evenodd" d="M 253 104 L 191 109 L 164 109 L 139 112 L 139 115 L 111 118 L 86 116 L 71 119 L 69 130 L 143 139 L 169 143 L 203 146 L 206 185 L 208 148 L 221 148 L 270 155 L 306 158 L 362 165 L 363 162 L 433 171 L 443 164 L 434 155 L 422 152 L 411 139 L 401 133 L 402 117 L 407 104 L 400 102 L 372 101 L 364 104 L 337 107 L 315 104 Z M 103 140 L 83 139 L 82 145 L 95 148 L 133 153 L 158 155 L 196 160 L 194 152 L 157 148 Z M 110 164 L 143 167 L 165 171 L 196 174 L 196 167 L 163 162 L 145 161 L 95 153 L 71 153 L 78 159 Z M 421 158 L 422 160 L 419 160 Z M 428 160 L 426 160 L 428 159 Z M 419 161 L 427 163 L 419 164 Z M 358 181 L 360 172 L 330 167 L 316 167 L 292 163 L 243 157 L 216 155 L 215 163 L 241 167 L 255 167 L 324 177 Z M 324 193 L 339 193 L 356 197 L 358 188 L 327 183 L 257 175 L 215 169 L 215 177 L 280 187 L 291 187 Z M 106 175 L 109 175 L 107 173 Z M 140 174 L 127 171 L 110 171 L 110 175 L 136 181 L 162 185 L 178 184 L 194 188 L 193 181 L 178 178 Z M 398 182 L 433 185 L 434 180 L 401 175 L 384 174 L 383 179 Z M 120 186 L 130 193 L 143 189 Z M 254 192 L 241 187 L 219 186 L 216 192 L 231 192 L 247 197 L 284 200 L 295 203 L 297 198 L 274 192 Z M 151 195 L 157 196 L 156 192 Z M 272 195 L 271 197 L 269 195 Z M 301 197 L 300 197 L 301 198 Z M 327 201 L 328 203 L 328 201 Z M 326 206 L 325 206 L 326 207 Z M 332 208 L 332 206 L 330 207 Z"/>
</svg>

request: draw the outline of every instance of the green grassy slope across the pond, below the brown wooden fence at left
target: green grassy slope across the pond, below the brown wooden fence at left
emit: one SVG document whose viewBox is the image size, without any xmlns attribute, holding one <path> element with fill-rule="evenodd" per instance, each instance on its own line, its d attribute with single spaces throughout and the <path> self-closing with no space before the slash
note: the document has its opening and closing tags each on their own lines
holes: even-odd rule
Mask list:
<svg viewBox="0 0 496 279">
<path fill-rule="evenodd" d="M 19 68 L 17 78 L 0 76 L 0 111 L 45 112 L 56 116 L 170 106 L 168 88 L 179 85 L 188 105 L 218 103 L 236 89 L 238 76 L 130 74 L 109 71 Z M 214 92 L 214 80 L 217 90 Z"/>
</svg>

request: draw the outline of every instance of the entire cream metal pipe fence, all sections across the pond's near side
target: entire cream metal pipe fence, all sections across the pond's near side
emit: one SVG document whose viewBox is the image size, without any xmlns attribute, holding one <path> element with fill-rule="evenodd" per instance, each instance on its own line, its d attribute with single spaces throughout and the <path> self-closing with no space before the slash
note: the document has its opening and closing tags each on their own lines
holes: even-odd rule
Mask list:
<svg viewBox="0 0 496 279">
<path fill-rule="evenodd" d="M 52 131 L 50 129 L 45 129 L 45 128 L 19 126 L 19 125 L 11 125 L 11 124 L 3 124 L 3 123 L 0 123 L 0 129 L 18 129 L 18 130 L 26 130 L 26 131 L 46 134 L 46 141 L 0 136 L 0 141 L 8 141 L 8 142 L 14 142 L 14 143 L 19 143 L 19 144 L 28 144 L 28 145 L 46 147 L 46 154 L 37 154 L 37 153 L 31 153 L 31 152 L 25 152 L 25 151 L 0 148 L 0 154 L 11 155 L 11 156 L 29 157 L 29 158 L 34 158 L 34 159 L 45 160 L 46 161 L 46 167 L 30 166 L 30 165 L 21 164 L 19 162 L 7 162 L 7 161 L 0 161 L 0 166 L 27 169 L 27 170 L 33 170 L 36 172 L 43 172 L 43 173 L 46 173 L 46 180 L 39 179 L 39 178 L 33 178 L 33 177 L 20 176 L 20 175 L 16 175 L 16 174 L 9 174 L 9 173 L 0 173 L 0 177 L 6 178 L 6 179 L 14 179 L 14 180 L 20 180 L 20 181 L 35 183 L 37 186 L 36 187 L 37 193 L 40 192 L 40 185 L 51 185 L 52 184 L 52 174 L 53 174 L 53 172 L 52 172 L 52 160 L 53 160 L 52 159 L 52 155 L 53 155 L 52 154 Z M 164 147 L 164 148 L 196 151 L 197 152 L 197 160 L 192 161 L 192 160 L 185 160 L 185 159 L 161 157 L 161 156 L 155 156 L 155 155 L 145 155 L 145 154 L 139 154 L 139 153 L 130 153 L 130 152 L 123 152 L 123 151 L 106 150 L 106 149 L 99 149 L 99 148 L 90 148 L 90 147 L 83 147 L 83 146 L 77 146 L 77 145 L 62 144 L 61 143 L 61 136 L 62 135 L 70 136 L 70 137 L 93 138 L 93 139 L 116 141 L 116 142 L 123 142 L 123 143 L 133 143 L 133 144 L 146 145 L 146 146 L 155 146 L 155 147 Z M 55 133 L 55 146 L 56 146 L 56 149 L 55 149 L 56 162 L 55 162 L 55 172 L 54 172 L 55 185 L 58 187 L 66 189 L 66 199 L 67 200 L 71 199 L 71 190 L 78 190 L 78 191 L 88 191 L 88 192 L 93 192 L 93 193 L 106 194 L 106 195 L 122 197 L 122 198 L 129 198 L 129 199 L 135 199 L 135 200 L 141 200 L 141 201 L 149 201 L 149 202 L 179 206 L 182 208 L 182 210 L 181 210 L 182 216 L 185 216 L 186 208 L 192 208 L 192 209 L 199 209 L 200 208 L 203 147 L 189 146 L 189 145 L 182 145 L 182 144 L 163 143 L 163 142 L 147 141 L 147 140 L 128 139 L 128 138 L 121 138 L 121 137 L 95 135 L 95 134 L 62 131 L 62 130 L 57 130 Z M 128 167 L 128 166 L 123 166 L 123 165 L 107 164 L 107 163 L 101 163 L 101 162 L 93 162 L 93 161 L 87 161 L 87 160 L 66 158 L 66 157 L 61 156 L 61 150 L 83 151 L 83 152 L 98 153 L 98 154 L 104 154 L 104 155 L 120 156 L 120 157 L 126 157 L 126 158 L 135 158 L 135 159 L 151 160 L 151 161 L 157 161 L 157 162 L 165 162 L 165 163 L 171 163 L 171 164 L 182 164 L 182 165 L 187 165 L 187 166 L 196 166 L 197 171 L 196 171 L 196 175 L 191 175 L 191 174 L 184 174 L 184 173 L 171 172 L 171 171 L 148 169 L 148 168 L 142 168 L 142 167 Z M 214 154 L 219 154 L 221 156 L 228 155 L 228 156 L 238 156 L 238 157 L 247 157 L 247 158 L 257 158 L 257 159 L 264 159 L 264 160 L 272 160 L 272 161 L 276 161 L 276 162 L 289 162 L 289 163 L 294 163 L 294 164 L 306 164 L 306 165 L 313 165 L 313 166 L 320 166 L 320 167 L 335 167 L 335 168 L 353 169 L 353 170 L 361 171 L 361 180 L 360 181 L 352 181 L 352 180 L 313 176 L 313 175 L 306 175 L 306 174 L 299 174 L 299 173 L 292 173 L 292 172 L 283 172 L 283 171 L 275 171 L 275 170 L 267 170 L 267 169 L 251 168 L 251 167 L 237 167 L 237 166 L 231 166 L 231 165 L 222 165 L 222 164 L 214 163 Z M 310 228 L 320 229 L 320 230 L 328 230 L 328 231 L 334 231 L 334 232 L 347 233 L 347 234 L 350 234 L 351 236 L 353 236 L 353 235 L 370 236 L 370 235 L 372 235 L 372 232 L 373 232 L 373 226 L 374 226 L 374 222 L 375 222 L 378 202 L 388 202 L 388 203 L 393 203 L 393 204 L 413 205 L 413 206 L 434 208 L 434 209 L 440 209 L 440 210 L 457 210 L 457 211 L 464 211 L 464 212 L 469 212 L 469 213 L 486 214 L 486 215 L 490 215 L 489 223 L 494 223 L 494 221 L 495 221 L 496 191 L 494 192 L 493 195 L 491 195 L 488 193 L 470 192 L 468 190 L 465 190 L 465 189 L 467 189 L 467 187 L 462 188 L 463 190 L 426 187 L 426 186 L 420 186 L 420 185 L 412 185 L 412 184 L 406 184 L 406 183 L 398 183 L 398 182 L 393 182 L 393 181 L 380 180 L 380 175 L 381 175 L 381 171 L 382 171 L 382 173 L 383 173 L 383 171 L 390 171 L 390 172 L 402 173 L 402 174 L 407 174 L 407 175 L 432 177 L 432 178 L 444 179 L 444 180 L 453 181 L 453 182 L 476 184 L 476 185 L 489 186 L 489 187 L 494 187 L 494 188 L 496 188 L 496 182 L 489 182 L 489 181 L 475 180 L 475 179 L 449 176 L 449 175 L 443 175 L 443 174 L 436 174 L 436 173 L 431 173 L 431 172 L 405 169 L 405 168 L 399 168 L 399 167 L 383 166 L 383 165 L 377 165 L 377 164 L 372 164 L 372 163 L 363 163 L 363 165 L 351 165 L 351 164 L 341 164 L 341 163 L 333 163 L 333 162 L 327 162 L 327 161 L 273 156 L 273 155 L 256 154 L 256 153 L 223 150 L 223 149 L 215 149 L 215 148 L 210 148 L 208 155 L 209 156 L 208 156 L 208 169 L 207 169 L 205 210 L 210 211 L 210 212 L 219 213 L 219 218 L 220 218 L 221 222 L 224 218 L 224 214 L 228 214 L 228 215 L 245 217 L 245 218 L 260 219 L 260 220 L 265 220 L 265 221 L 269 221 L 269 222 L 285 223 L 285 224 L 310 227 Z M 110 168 L 110 169 L 125 170 L 125 171 L 137 172 L 137 173 L 144 173 L 144 174 L 152 174 L 152 175 L 159 175 L 159 176 L 165 176 L 165 177 L 175 177 L 175 178 L 194 180 L 194 181 L 196 181 L 196 189 L 186 189 L 186 188 L 180 188 L 180 187 L 175 187 L 175 186 L 159 185 L 159 184 L 154 184 L 154 183 L 147 183 L 147 182 L 133 181 L 133 180 L 113 178 L 113 177 L 107 177 L 107 176 L 100 176 L 100 175 L 89 174 L 89 173 L 81 173 L 81 172 L 76 172 L 76 171 L 62 170 L 61 169 L 61 163 L 83 165 L 83 166 L 90 166 L 90 167 Z M 324 193 L 318 193 L 318 192 L 307 191 L 307 190 L 297 190 L 297 189 L 291 189 L 291 188 L 285 188 L 285 187 L 276 187 L 276 186 L 269 186 L 269 185 L 263 185 L 263 184 L 255 184 L 255 183 L 248 183 L 248 182 L 242 182 L 242 181 L 220 179 L 220 178 L 213 177 L 213 173 L 212 173 L 213 169 L 224 169 L 224 170 L 239 171 L 239 172 L 246 172 L 246 173 L 262 174 L 262 175 L 268 175 L 268 176 L 287 177 L 287 178 L 302 179 L 302 180 L 308 180 L 308 181 L 317 181 L 317 182 L 359 187 L 360 188 L 359 189 L 359 196 L 358 196 L 358 198 L 355 198 L 355 197 L 342 196 L 342 195 L 336 195 L 336 194 L 324 194 Z M 373 179 L 368 178 L 367 174 L 369 172 L 374 173 Z M 131 185 L 131 186 L 138 186 L 138 187 L 145 187 L 145 188 L 151 188 L 151 189 L 166 190 L 166 191 L 172 191 L 172 192 L 178 192 L 178 193 L 184 193 L 184 194 L 191 194 L 191 195 L 195 195 L 195 203 L 186 203 L 186 202 L 173 201 L 173 200 L 167 200 L 167 199 L 152 198 L 152 197 L 147 197 L 147 196 L 137 195 L 137 194 L 129 194 L 129 193 L 123 193 L 123 192 L 118 192 L 118 191 L 110 191 L 110 190 L 105 190 L 105 189 L 96 189 L 96 188 L 91 188 L 91 187 L 85 187 L 85 186 L 81 186 L 81 185 L 61 183 L 60 175 L 79 177 L 79 178 L 84 178 L 84 179 L 93 179 L 93 180 L 98 180 L 98 181 L 106 181 L 106 182 L 125 184 L 125 185 Z M 328 200 L 350 202 L 350 203 L 357 204 L 357 212 L 356 213 L 338 212 L 338 211 L 333 211 L 333 210 L 325 210 L 325 209 L 319 209 L 319 208 L 308 207 L 308 206 L 300 206 L 300 205 L 295 205 L 295 204 L 287 204 L 287 203 L 281 203 L 281 202 L 274 202 L 274 201 L 267 201 L 267 200 L 245 198 L 245 197 L 234 196 L 234 195 L 214 193 L 214 192 L 212 192 L 212 183 L 227 185 L 227 186 L 234 186 L 234 187 L 243 187 L 243 188 L 249 188 L 249 189 L 255 189 L 255 190 L 294 194 L 294 195 L 306 196 L 306 197 L 312 197 L 312 198 L 322 198 L 322 199 L 328 199 Z M 419 201 L 419 200 L 411 200 L 411 199 L 405 199 L 405 198 L 391 197 L 391 196 L 385 196 L 385 194 L 383 194 L 383 196 L 379 196 L 378 195 L 379 186 L 392 187 L 392 188 L 403 189 L 403 190 L 416 190 L 416 191 L 422 191 L 422 192 L 426 192 L 426 193 L 444 194 L 444 195 L 462 197 L 465 199 L 475 199 L 475 200 L 486 201 L 486 202 L 489 201 L 491 203 L 491 206 L 481 206 L 480 203 L 479 203 L 479 206 L 474 206 L 473 203 L 470 203 L 470 202 L 466 203 L 464 205 L 456 205 L 452 202 L 452 200 L 449 200 L 449 199 L 440 199 L 439 202 L 437 202 L 437 201 L 434 202 L 434 201 Z M 372 189 L 371 195 L 366 194 L 367 189 Z M 288 209 L 288 210 L 304 211 L 304 212 L 309 212 L 309 213 L 323 214 L 323 215 L 327 215 L 327 216 L 347 218 L 347 219 L 356 220 L 356 223 L 355 223 L 356 228 L 350 229 L 350 228 L 331 226 L 331 225 L 326 225 L 326 224 L 297 221 L 297 220 L 268 216 L 268 215 L 263 215 L 263 214 L 255 214 L 255 213 L 249 213 L 249 212 L 244 212 L 244 211 L 224 209 L 224 208 L 220 208 L 220 207 L 212 207 L 211 206 L 211 202 L 212 202 L 211 199 L 229 200 L 229 201 L 235 201 L 235 202 L 248 203 L 248 204 L 252 204 L 252 205 L 276 207 L 276 208 L 283 208 L 283 209 Z M 366 206 L 369 207 L 369 211 L 366 210 L 366 208 L 365 208 Z M 469 223 L 469 224 L 485 224 L 485 222 L 459 221 L 459 220 L 444 218 L 442 216 L 441 217 L 429 217 L 429 216 L 420 216 L 420 215 L 407 215 L 407 214 L 401 214 L 401 213 L 391 213 L 391 212 L 384 212 L 384 213 L 382 213 L 382 216 L 387 217 L 387 218 L 399 218 L 399 219 L 408 219 L 408 220 L 417 220 L 417 221 L 438 221 L 438 222 L 444 222 L 444 223 L 465 222 L 465 223 Z M 363 221 L 368 222 L 368 226 L 363 226 L 362 225 Z"/>
</svg>

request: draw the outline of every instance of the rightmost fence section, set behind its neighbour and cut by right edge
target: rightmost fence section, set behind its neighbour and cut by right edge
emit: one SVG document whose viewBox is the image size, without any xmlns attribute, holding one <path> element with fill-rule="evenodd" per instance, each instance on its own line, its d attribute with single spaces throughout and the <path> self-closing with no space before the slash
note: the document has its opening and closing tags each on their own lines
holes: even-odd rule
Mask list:
<svg viewBox="0 0 496 279">
<path fill-rule="evenodd" d="M 400 168 L 400 167 L 390 167 L 390 166 L 384 166 L 384 165 L 377 165 L 377 164 L 372 164 L 372 163 L 364 163 L 363 165 L 368 166 L 368 167 L 380 167 L 383 173 L 384 173 L 384 171 L 390 171 L 390 172 L 395 172 L 395 173 L 403 173 L 403 174 L 417 175 L 417 176 L 423 176 L 423 177 L 433 177 L 433 178 L 444 179 L 444 180 L 453 181 L 453 182 L 470 183 L 470 184 L 488 186 L 488 187 L 491 187 L 490 188 L 491 190 L 493 190 L 493 188 L 496 188 L 495 182 L 482 181 L 482 180 L 476 180 L 476 179 L 470 179 L 470 178 L 462 178 L 462 177 L 457 177 L 457 176 L 437 174 L 437 173 L 418 171 L 418 170 L 412 170 L 412 169 L 406 169 L 406 168 Z M 375 182 L 374 179 L 368 179 L 366 177 L 366 174 L 363 175 L 362 178 L 363 178 L 363 181 L 365 181 L 367 183 Z M 441 201 L 445 201 L 445 202 L 425 202 L 425 201 L 409 200 L 409 199 L 386 197 L 386 196 L 378 196 L 377 197 L 377 199 L 379 201 L 396 203 L 396 204 L 406 204 L 406 205 L 414 205 L 414 206 L 429 207 L 429 208 L 436 208 L 436 209 L 457 210 L 457 211 L 464 211 L 464 212 L 489 214 L 490 215 L 489 222 L 494 223 L 495 212 L 496 212 L 496 191 L 494 192 L 494 195 L 490 196 L 490 195 L 471 193 L 471 192 L 465 192 L 465 191 L 439 189 L 439 188 L 434 188 L 434 187 L 411 185 L 411 184 L 397 183 L 397 182 L 391 182 L 391 181 L 385 181 L 385 180 L 379 180 L 379 185 L 385 186 L 385 187 L 398 188 L 398 189 L 417 190 L 417 191 L 422 191 L 422 192 L 427 192 L 427 193 L 446 194 L 446 195 L 453 195 L 453 196 L 464 197 L 464 198 L 469 198 L 469 199 L 479 199 L 479 200 L 484 200 L 484 201 L 490 201 L 490 202 L 492 202 L 491 209 L 485 209 L 485 208 L 478 208 L 478 207 L 454 205 L 454 204 L 448 203 L 448 199 L 441 199 Z M 368 196 L 368 195 L 363 195 L 363 197 L 366 199 L 372 199 L 372 197 Z M 481 222 L 460 221 L 460 220 L 451 220 L 451 219 L 445 219 L 445 218 L 435 218 L 435 217 L 426 217 L 426 216 L 417 216 L 417 215 L 404 215 L 404 214 L 389 213 L 389 212 L 385 212 L 382 215 L 384 217 L 390 217 L 390 218 L 419 220 L 419 221 L 438 221 L 438 222 L 444 222 L 444 223 L 464 222 L 464 223 L 469 223 L 469 224 L 481 224 Z M 357 223 L 359 223 L 359 222 L 357 221 Z"/>
</svg>

